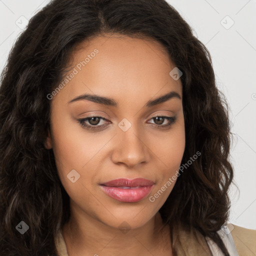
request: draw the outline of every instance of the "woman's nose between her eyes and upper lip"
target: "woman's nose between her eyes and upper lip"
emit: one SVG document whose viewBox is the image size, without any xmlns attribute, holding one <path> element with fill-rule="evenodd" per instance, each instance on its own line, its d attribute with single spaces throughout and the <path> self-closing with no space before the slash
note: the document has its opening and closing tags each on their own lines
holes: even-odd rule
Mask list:
<svg viewBox="0 0 256 256">
<path fill-rule="evenodd" d="M 146 133 L 131 125 L 126 131 L 118 128 L 115 135 L 111 159 L 116 164 L 125 164 L 127 168 L 149 161 L 150 148 Z"/>
</svg>

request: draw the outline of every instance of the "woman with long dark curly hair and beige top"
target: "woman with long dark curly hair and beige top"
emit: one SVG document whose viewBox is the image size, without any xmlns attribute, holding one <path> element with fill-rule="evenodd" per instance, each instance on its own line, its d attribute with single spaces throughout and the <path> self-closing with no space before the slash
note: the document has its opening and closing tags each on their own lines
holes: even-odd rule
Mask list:
<svg viewBox="0 0 256 256">
<path fill-rule="evenodd" d="M 51 1 L 2 73 L 2 255 L 255 254 L 226 105 L 164 0 Z"/>
</svg>

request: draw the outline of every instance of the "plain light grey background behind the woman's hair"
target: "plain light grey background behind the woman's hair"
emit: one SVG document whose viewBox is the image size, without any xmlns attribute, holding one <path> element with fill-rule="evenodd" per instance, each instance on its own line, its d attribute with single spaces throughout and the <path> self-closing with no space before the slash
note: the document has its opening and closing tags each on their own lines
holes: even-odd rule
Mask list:
<svg viewBox="0 0 256 256">
<path fill-rule="evenodd" d="M 26 19 L 48 2 L 0 0 L 0 70 Z M 232 186 L 229 221 L 256 229 L 256 0 L 168 2 L 209 49 L 218 87 L 231 109 L 231 161 L 240 195 Z"/>
</svg>

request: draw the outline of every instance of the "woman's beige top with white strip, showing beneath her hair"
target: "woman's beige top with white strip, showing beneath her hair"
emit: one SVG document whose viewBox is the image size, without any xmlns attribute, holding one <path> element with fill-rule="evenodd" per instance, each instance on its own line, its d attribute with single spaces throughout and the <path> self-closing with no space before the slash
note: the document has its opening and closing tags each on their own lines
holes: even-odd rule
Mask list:
<svg viewBox="0 0 256 256">
<path fill-rule="evenodd" d="M 230 256 L 256 256 L 256 230 L 233 224 L 227 224 L 226 227 L 226 229 L 220 229 L 218 233 L 226 245 Z M 205 239 L 199 232 L 196 232 L 196 235 L 192 235 L 182 231 L 180 233 L 180 242 L 182 246 L 177 247 L 178 256 L 223 255 L 212 240 Z M 62 230 L 59 231 L 55 238 L 55 243 L 58 255 L 68 256 Z"/>
</svg>

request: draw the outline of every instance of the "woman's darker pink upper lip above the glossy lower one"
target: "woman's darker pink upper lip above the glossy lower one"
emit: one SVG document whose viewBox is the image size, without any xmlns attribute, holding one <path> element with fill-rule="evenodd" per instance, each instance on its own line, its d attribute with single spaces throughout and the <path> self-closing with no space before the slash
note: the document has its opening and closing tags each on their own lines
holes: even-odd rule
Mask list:
<svg viewBox="0 0 256 256">
<path fill-rule="evenodd" d="M 134 179 L 117 178 L 117 179 L 112 179 L 105 183 L 102 183 L 101 185 L 135 187 L 135 186 L 150 186 L 153 184 L 154 182 L 152 180 L 145 179 L 145 178 L 134 178 Z"/>
</svg>

